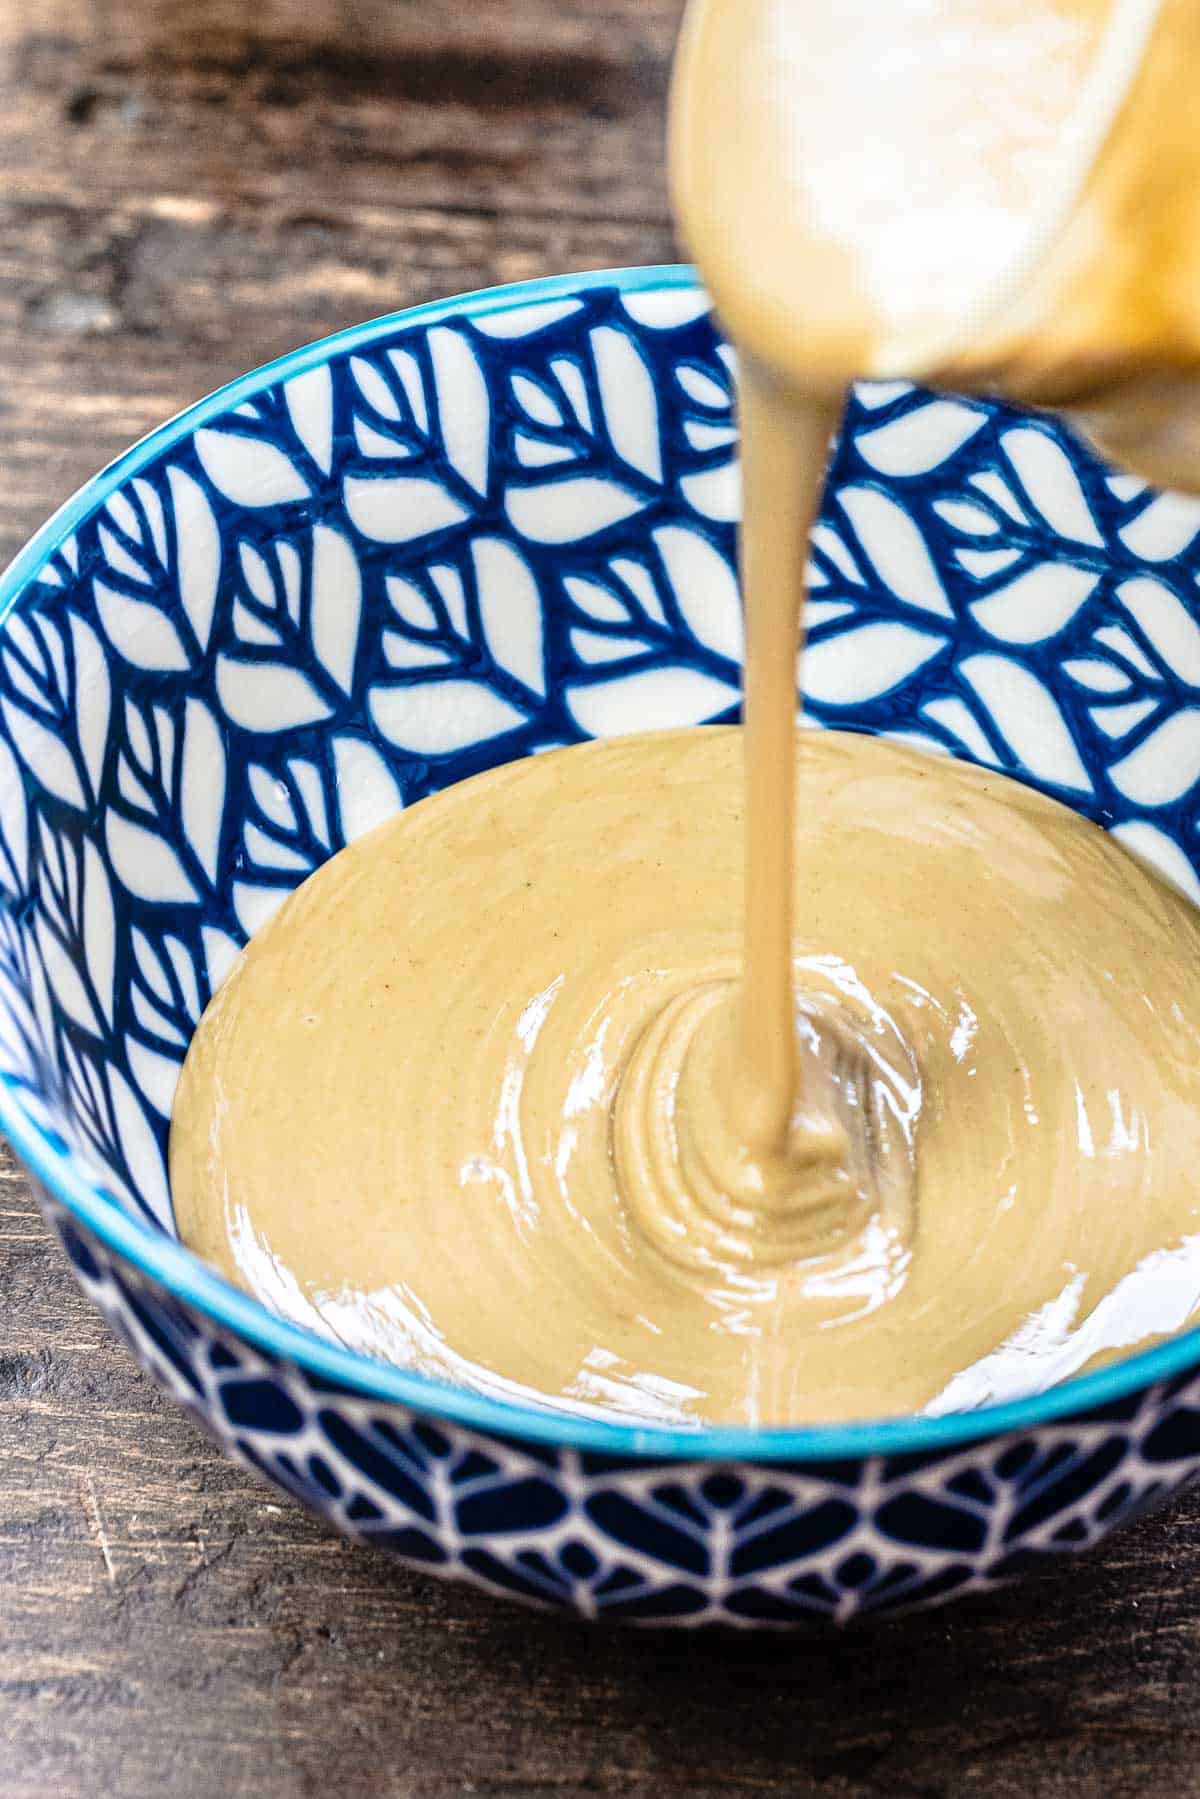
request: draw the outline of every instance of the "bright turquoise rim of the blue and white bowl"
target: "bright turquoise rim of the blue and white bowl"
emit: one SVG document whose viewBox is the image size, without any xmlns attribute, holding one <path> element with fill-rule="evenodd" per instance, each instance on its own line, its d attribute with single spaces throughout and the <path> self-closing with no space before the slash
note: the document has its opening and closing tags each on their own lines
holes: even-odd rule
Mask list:
<svg viewBox="0 0 1200 1799">
<path fill-rule="evenodd" d="M 700 279 L 694 268 L 684 263 L 547 275 L 385 313 L 288 351 L 185 407 L 85 482 L 0 574 L 0 631 L 25 588 L 38 577 L 65 538 L 92 516 L 117 488 L 151 461 L 178 446 L 200 425 L 232 410 L 266 387 L 381 336 L 403 329 L 425 329 L 448 317 L 484 318 L 489 313 L 570 299 L 597 288 L 617 288 L 622 295 L 639 295 L 698 286 Z M 225 1281 L 184 1243 L 131 1216 L 99 1186 L 81 1178 L 61 1139 L 50 1128 L 34 1123 L 20 1103 L 20 1090 L 2 1076 L 0 1132 L 34 1178 L 106 1249 L 131 1263 L 146 1279 L 164 1286 L 175 1299 L 193 1306 L 268 1356 L 349 1389 L 356 1396 L 390 1401 L 416 1414 L 471 1430 L 563 1450 L 669 1463 L 822 1463 L 937 1452 L 981 1437 L 1036 1428 L 1054 1419 L 1110 1405 L 1141 1387 L 1182 1374 L 1200 1362 L 1200 1326 L 1195 1326 L 1168 1342 L 1121 1356 L 1090 1374 L 1078 1374 L 1045 1392 L 1009 1400 L 1002 1405 L 984 1405 L 973 1412 L 905 1414 L 856 1419 L 844 1425 L 788 1427 L 640 1425 L 578 1416 L 556 1410 L 549 1403 L 500 1400 L 434 1380 L 428 1374 L 329 1344 L 304 1326 L 277 1317 L 257 1299 Z"/>
</svg>

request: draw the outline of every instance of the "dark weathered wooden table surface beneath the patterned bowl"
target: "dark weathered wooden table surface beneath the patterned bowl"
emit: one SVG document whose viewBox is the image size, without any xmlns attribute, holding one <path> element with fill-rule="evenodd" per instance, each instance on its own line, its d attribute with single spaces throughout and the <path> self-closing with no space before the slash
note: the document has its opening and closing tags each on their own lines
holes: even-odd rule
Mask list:
<svg viewBox="0 0 1200 1799">
<path fill-rule="evenodd" d="M 678 0 L 0 0 L 0 563 L 374 313 L 671 254 Z M 140 1378 L 0 1162 L 0 1795 L 1200 1794 L 1200 1499 L 842 1635 L 542 1619 L 349 1549 Z"/>
</svg>

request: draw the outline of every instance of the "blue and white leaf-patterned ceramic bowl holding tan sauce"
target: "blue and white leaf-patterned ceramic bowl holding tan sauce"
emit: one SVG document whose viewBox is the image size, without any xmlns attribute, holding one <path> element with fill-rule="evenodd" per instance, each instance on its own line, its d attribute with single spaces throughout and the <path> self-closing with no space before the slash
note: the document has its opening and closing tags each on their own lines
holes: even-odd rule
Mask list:
<svg viewBox="0 0 1200 1799">
<path fill-rule="evenodd" d="M 642 1621 L 846 1619 L 1094 1544 L 1200 1466 L 1200 1333 L 950 1418 L 664 1430 L 480 1398 L 178 1245 L 187 1040 L 246 937 L 396 808 L 734 716 L 734 363 L 687 270 L 297 351 L 99 475 L 0 583 L 0 1124 L 74 1270 L 218 1441 L 349 1535 Z M 1200 507 L 1061 430 L 860 389 L 808 707 L 1009 770 L 1200 900 Z"/>
</svg>

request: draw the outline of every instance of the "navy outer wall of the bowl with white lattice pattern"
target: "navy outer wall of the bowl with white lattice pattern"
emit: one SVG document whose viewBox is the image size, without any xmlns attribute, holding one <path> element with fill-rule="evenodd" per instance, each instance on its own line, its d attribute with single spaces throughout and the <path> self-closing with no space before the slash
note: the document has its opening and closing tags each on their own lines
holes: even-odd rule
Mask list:
<svg viewBox="0 0 1200 1799">
<path fill-rule="evenodd" d="M 360 1542 L 585 1617 L 844 1623 L 988 1590 L 1090 1547 L 1200 1459 L 1195 1373 L 927 1455 L 754 1466 L 522 1443 L 255 1351 L 43 1202 L 117 1337 L 227 1454 Z"/>
</svg>

